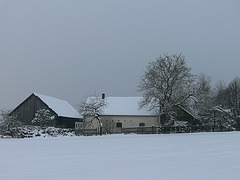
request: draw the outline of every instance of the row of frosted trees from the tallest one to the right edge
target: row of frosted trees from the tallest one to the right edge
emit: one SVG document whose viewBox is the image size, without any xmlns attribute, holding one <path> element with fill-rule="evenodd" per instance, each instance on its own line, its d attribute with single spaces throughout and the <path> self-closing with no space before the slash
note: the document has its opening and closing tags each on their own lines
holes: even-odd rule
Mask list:
<svg viewBox="0 0 240 180">
<path fill-rule="evenodd" d="M 181 106 L 213 130 L 239 130 L 240 78 L 212 86 L 209 76 L 191 73 L 182 54 L 163 54 L 150 62 L 138 91 L 143 95 L 140 108 L 155 110 L 160 126 L 174 125 Z"/>
</svg>

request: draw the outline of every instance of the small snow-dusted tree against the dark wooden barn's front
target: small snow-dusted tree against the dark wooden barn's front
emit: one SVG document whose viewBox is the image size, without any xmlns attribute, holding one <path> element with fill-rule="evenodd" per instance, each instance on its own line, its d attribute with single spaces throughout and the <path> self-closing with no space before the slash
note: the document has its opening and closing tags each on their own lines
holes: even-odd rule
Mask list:
<svg viewBox="0 0 240 180">
<path fill-rule="evenodd" d="M 32 120 L 32 124 L 36 126 L 53 126 L 55 117 L 50 113 L 49 110 L 39 109 L 35 113 L 35 118 Z"/>
</svg>

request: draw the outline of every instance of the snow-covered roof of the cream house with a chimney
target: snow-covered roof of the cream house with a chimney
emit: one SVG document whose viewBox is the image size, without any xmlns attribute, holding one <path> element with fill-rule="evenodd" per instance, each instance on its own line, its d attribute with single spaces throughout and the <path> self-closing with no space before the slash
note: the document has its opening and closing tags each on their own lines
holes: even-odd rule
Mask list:
<svg viewBox="0 0 240 180">
<path fill-rule="evenodd" d="M 131 115 L 131 116 L 153 116 L 153 111 L 146 108 L 139 109 L 139 102 L 142 97 L 107 97 L 106 107 L 103 108 L 103 115 Z"/>
</svg>

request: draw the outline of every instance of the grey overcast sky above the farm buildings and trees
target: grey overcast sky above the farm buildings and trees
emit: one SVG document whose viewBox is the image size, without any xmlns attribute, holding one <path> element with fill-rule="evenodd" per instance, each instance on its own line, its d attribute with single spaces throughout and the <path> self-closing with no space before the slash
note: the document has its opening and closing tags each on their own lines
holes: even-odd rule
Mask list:
<svg viewBox="0 0 240 180">
<path fill-rule="evenodd" d="M 0 0 L 0 108 L 139 96 L 148 62 L 181 52 L 193 74 L 240 76 L 240 1 Z"/>
</svg>

